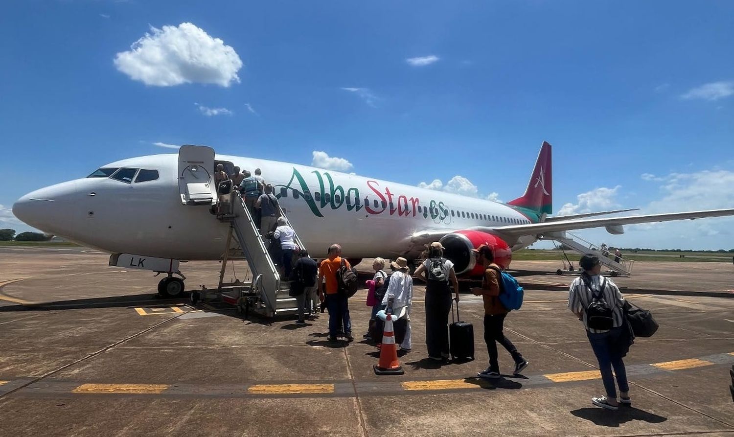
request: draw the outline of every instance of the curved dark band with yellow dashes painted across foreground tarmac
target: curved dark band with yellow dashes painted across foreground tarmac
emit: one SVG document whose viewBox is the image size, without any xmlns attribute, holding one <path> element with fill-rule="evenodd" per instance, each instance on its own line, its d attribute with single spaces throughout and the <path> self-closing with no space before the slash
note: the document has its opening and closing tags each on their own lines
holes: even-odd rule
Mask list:
<svg viewBox="0 0 734 437">
<path fill-rule="evenodd" d="M 653 364 L 626 366 L 629 377 L 672 374 L 675 371 L 701 366 L 734 363 L 734 352 L 717 353 L 686 360 L 664 361 Z M 69 380 L 46 379 L 32 383 L 28 378 L 7 380 L 0 384 L 0 394 L 15 391 L 15 396 L 69 397 L 77 395 L 144 395 L 159 397 L 195 398 L 262 398 L 262 397 L 355 397 L 383 396 L 385 394 L 421 394 L 426 391 L 461 392 L 467 389 L 519 389 L 550 387 L 562 383 L 576 383 L 600 379 L 599 370 L 549 373 L 545 375 L 511 376 L 489 380 L 476 376 L 450 380 L 336 380 L 313 383 L 250 383 L 250 384 L 137 384 L 137 383 L 81 383 Z M 7 387 L 7 388 L 6 388 Z M 13 388 L 12 390 L 8 388 Z M 24 388 L 23 388 L 24 387 Z"/>
</svg>

